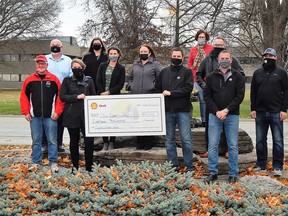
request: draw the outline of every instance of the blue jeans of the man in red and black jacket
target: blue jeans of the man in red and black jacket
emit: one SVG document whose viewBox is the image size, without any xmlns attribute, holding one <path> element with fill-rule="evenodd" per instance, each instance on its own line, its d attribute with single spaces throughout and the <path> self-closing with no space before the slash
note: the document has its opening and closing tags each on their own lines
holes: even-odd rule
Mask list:
<svg viewBox="0 0 288 216">
<path fill-rule="evenodd" d="M 32 117 L 30 122 L 32 136 L 32 162 L 41 164 L 42 160 L 42 137 L 45 131 L 48 143 L 48 160 L 50 163 L 57 163 L 57 121 L 51 118 Z"/>
</svg>

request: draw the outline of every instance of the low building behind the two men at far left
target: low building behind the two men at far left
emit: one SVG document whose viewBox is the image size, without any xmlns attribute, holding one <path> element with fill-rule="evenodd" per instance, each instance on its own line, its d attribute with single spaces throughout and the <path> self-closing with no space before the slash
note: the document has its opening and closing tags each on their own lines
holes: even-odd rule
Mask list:
<svg viewBox="0 0 288 216">
<path fill-rule="evenodd" d="M 82 58 L 87 51 L 68 36 L 0 41 L 0 88 L 20 89 L 25 78 L 35 71 L 35 57 L 51 53 L 50 41 L 55 38 L 62 41 L 63 54 L 72 59 Z"/>
</svg>

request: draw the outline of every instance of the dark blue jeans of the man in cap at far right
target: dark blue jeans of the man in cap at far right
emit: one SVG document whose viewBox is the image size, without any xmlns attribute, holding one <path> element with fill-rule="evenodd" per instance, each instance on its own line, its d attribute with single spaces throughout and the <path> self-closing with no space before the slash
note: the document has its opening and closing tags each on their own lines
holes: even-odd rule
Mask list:
<svg viewBox="0 0 288 216">
<path fill-rule="evenodd" d="M 280 113 L 257 112 L 256 114 L 256 165 L 266 168 L 267 164 L 267 133 L 269 126 L 273 140 L 273 168 L 283 169 L 284 141 L 283 121 L 280 121 Z"/>
</svg>

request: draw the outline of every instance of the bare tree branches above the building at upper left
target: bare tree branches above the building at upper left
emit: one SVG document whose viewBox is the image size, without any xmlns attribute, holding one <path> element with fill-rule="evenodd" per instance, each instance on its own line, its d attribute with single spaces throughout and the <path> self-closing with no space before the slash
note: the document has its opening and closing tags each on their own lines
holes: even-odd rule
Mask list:
<svg viewBox="0 0 288 216">
<path fill-rule="evenodd" d="M 59 12 L 57 0 L 1 0 L 0 40 L 49 34 Z"/>
</svg>

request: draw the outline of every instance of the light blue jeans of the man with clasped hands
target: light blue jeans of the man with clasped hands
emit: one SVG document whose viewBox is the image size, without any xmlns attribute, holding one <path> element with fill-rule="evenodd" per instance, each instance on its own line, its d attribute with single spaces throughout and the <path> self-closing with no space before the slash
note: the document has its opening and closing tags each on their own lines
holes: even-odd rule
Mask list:
<svg viewBox="0 0 288 216">
<path fill-rule="evenodd" d="M 238 167 L 238 128 L 239 116 L 228 114 L 225 120 L 220 120 L 209 113 L 209 145 L 208 163 L 210 174 L 218 174 L 218 145 L 222 130 L 225 130 L 228 145 L 229 176 L 235 177 L 239 173 Z"/>
</svg>

